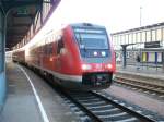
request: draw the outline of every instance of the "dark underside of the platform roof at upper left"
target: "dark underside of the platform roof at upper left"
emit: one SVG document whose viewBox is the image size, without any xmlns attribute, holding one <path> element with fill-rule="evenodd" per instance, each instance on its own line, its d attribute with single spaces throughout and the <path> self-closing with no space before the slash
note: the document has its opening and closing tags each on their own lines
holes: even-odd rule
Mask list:
<svg viewBox="0 0 164 122">
<path fill-rule="evenodd" d="M 27 34 L 35 16 L 42 10 L 43 3 L 57 7 L 60 0 L 0 0 L 0 5 L 7 19 L 7 48 L 11 49 Z M 47 15 L 48 16 L 48 15 Z"/>
</svg>

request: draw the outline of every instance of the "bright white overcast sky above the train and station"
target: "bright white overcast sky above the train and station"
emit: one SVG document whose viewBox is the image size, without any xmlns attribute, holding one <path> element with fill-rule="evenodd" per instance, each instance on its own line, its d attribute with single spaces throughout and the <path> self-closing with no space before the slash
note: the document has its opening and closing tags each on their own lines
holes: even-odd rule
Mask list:
<svg viewBox="0 0 164 122">
<path fill-rule="evenodd" d="M 61 0 L 46 25 L 52 29 L 89 22 L 115 33 L 139 27 L 140 15 L 142 26 L 164 22 L 163 4 L 164 0 Z"/>
</svg>

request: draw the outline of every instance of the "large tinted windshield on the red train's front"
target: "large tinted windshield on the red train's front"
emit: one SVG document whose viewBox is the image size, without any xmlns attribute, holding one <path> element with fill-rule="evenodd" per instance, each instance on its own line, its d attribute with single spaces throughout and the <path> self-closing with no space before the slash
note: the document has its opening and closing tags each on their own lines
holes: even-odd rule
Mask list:
<svg viewBox="0 0 164 122">
<path fill-rule="evenodd" d="M 77 29 L 74 33 L 80 49 L 108 49 L 105 29 Z"/>
</svg>

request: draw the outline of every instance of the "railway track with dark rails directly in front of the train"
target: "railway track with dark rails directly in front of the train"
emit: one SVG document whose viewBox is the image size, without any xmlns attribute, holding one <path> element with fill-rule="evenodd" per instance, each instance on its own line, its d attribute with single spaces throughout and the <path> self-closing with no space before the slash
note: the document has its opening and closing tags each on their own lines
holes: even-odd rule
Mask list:
<svg viewBox="0 0 164 122">
<path fill-rule="evenodd" d="M 85 118 L 84 122 L 156 122 L 152 115 L 143 114 L 142 111 L 127 107 L 102 93 L 62 91 L 62 94 L 69 99 L 66 100 L 67 103 L 83 114 L 81 117 Z"/>
</svg>

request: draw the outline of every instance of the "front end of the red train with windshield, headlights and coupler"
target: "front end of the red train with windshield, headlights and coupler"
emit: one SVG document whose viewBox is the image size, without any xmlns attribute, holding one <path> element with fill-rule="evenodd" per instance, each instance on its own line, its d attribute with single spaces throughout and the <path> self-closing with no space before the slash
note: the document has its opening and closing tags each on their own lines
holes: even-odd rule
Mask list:
<svg viewBox="0 0 164 122">
<path fill-rule="evenodd" d="M 82 89 L 108 88 L 115 73 L 115 56 L 105 27 L 73 25 L 81 59 Z"/>
</svg>

